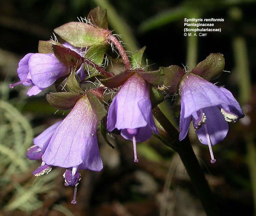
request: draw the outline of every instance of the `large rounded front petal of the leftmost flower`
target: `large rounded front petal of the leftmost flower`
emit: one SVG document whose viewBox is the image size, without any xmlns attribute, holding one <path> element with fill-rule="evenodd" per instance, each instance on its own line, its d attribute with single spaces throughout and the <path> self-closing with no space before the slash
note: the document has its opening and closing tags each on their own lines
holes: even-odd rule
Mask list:
<svg viewBox="0 0 256 216">
<path fill-rule="evenodd" d="M 53 53 L 35 53 L 28 65 L 32 82 L 40 88 L 46 88 L 59 77 L 69 74 L 68 66 L 62 64 Z"/>
</svg>

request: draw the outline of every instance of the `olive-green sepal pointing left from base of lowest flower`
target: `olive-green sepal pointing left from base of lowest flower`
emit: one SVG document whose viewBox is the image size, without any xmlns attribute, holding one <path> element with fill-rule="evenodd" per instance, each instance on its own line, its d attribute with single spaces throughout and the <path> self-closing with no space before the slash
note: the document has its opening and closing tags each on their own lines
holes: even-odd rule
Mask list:
<svg viewBox="0 0 256 216">
<path fill-rule="evenodd" d="M 82 95 L 71 92 L 50 92 L 46 94 L 48 103 L 56 109 L 72 109 Z"/>
</svg>

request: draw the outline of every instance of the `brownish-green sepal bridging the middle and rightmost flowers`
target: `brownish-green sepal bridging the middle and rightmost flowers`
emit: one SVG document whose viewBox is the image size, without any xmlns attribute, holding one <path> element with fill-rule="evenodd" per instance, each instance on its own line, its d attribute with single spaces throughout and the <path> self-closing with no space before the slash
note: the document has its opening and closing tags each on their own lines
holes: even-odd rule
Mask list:
<svg viewBox="0 0 256 216">
<path fill-rule="evenodd" d="M 160 67 L 157 71 L 138 71 L 147 82 L 155 86 L 165 86 L 168 93 L 178 91 L 178 84 L 184 75 L 185 71 L 177 66 L 171 65 L 169 67 Z"/>
</svg>

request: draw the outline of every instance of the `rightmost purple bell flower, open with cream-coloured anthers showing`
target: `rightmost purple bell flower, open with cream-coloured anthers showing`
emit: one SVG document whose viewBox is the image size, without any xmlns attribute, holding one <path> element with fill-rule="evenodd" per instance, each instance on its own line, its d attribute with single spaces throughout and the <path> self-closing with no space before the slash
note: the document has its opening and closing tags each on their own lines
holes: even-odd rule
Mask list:
<svg viewBox="0 0 256 216">
<path fill-rule="evenodd" d="M 191 118 L 197 137 L 202 144 L 211 145 L 224 140 L 229 130 L 228 122 L 236 122 L 244 113 L 230 91 L 218 87 L 202 77 L 187 73 L 179 85 L 181 95 L 181 117 L 179 140 L 188 133 Z"/>
</svg>

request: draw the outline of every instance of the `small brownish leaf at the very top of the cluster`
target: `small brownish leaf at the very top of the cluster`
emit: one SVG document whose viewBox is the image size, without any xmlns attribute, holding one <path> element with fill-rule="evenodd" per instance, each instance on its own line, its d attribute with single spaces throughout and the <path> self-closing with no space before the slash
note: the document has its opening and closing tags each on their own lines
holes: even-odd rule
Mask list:
<svg viewBox="0 0 256 216">
<path fill-rule="evenodd" d="M 108 28 L 107 10 L 102 10 L 100 6 L 92 9 L 88 14 L 87 19 L 95 26 Z"/>
</svg>

